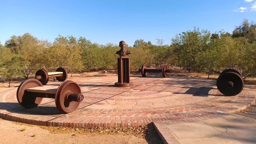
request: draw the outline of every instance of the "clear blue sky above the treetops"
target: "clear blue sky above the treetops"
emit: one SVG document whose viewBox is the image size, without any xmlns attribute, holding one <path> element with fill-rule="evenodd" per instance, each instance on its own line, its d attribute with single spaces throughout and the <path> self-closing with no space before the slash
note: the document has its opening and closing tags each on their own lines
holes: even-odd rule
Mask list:
<svg viewBox="0 0 256 144">
<path fill-rule="evenodd" d="M 0 0 L 0 42 L 30 33 L 50 42 L 60 34 L 99 44 L 170 45 L 194 26 L 232 33 L 244 19 L 256 22 L 256 0 Z"/>
</svg>

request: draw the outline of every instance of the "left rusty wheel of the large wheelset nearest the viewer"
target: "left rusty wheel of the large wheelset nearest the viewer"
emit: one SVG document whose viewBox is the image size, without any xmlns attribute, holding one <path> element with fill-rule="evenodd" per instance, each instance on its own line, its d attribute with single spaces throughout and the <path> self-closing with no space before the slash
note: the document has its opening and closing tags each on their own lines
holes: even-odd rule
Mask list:
<svg viewBox="0 0 256 144">
<path fill-rule="evenodd" d="M 20 84 L 18 87 L 16 97 L 18 103 L 22 105 L 24 108 L 32 108 L 37 107 L 43 98 L 30 96 L 26 93 L 26 89 L 33 88 L 33 87 L 42 87 L 42 83 L 37 79 L 28 79 Z"/>
</svg>

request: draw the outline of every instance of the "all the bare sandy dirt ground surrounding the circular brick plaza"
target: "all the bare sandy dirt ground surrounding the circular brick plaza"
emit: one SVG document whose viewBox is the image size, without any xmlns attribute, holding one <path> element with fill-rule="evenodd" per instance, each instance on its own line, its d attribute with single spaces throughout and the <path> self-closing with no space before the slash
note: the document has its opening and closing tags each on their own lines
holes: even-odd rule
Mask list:
<svg viewBox="0 0 256 144">
<path fill-rule="evenodd" d="M 115 71 L 85 72 L 69 74 L 69 79 L 76 77 L 106 76 L 116 75 Z M 139 72 L 131 73 L 131 75 L 140 75 Z M 151 74 L 154 75 L 154 74 Z M 174 69 L 169 76 L 197 77 L 207 79 L 207 74 L 187 73 L 179 69 Z M 210 79 L 217 79 L 218 74 L 210 75 Z M 18 87 L 24 80 L 14 80 L 11 87 Z M 256 86 L 256 79 L 248 79 L 246 84 L 253 87 Z M 0 81 L 0 92 L 8 89 L 8 82 Z M 243 116 L 256 119 L 256 105 L 245 110 L 236 112 Z M 0 144 L 162 144 L 154 126 L 152 124 L 139 128 L 62 128 L 62 127 L 46 127 L 35 126 L 30 124 L 22 124 L 12 122 L 0 118 Z"/>
</svg>

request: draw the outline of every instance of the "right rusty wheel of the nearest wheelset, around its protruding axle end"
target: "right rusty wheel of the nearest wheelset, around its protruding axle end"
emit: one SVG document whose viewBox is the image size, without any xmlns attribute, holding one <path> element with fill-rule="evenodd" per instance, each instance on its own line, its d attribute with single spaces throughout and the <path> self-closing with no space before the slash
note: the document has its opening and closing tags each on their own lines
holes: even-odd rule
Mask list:
<svg viewBox="0 0 256 144">
<path fill-rule="evenodd" d="M 78 108 L 80 102 L 68 99 L 73 93 L 81 93 L 79 85 L 73 81 L 64 81 L 60 84 L 55 95 L 55 104 L 60 112 L 70 113 Z"/>
</svg>

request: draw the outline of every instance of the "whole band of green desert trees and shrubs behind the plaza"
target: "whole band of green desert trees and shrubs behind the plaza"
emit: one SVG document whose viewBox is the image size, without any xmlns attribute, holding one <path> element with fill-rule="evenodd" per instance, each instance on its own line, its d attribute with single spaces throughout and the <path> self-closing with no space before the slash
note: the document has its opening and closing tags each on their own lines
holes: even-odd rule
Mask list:
<svg viewBox="0 0 256 144">
<path fill-rule="evenodd" d="M 146 63 L 149 66 L 167 64 L 208 75 L 233 68 L 240 71 L 244 79 L 256 76 L 255 22 L 243 20 L 232 34 L 223 30 L 210 33 L 194 27 L 176 34 L 170 45 L 163 45 L 162 39 L 156 40 L 156 45 L 137 39 L 132 47 L 127 46 L 132 51 L 131 71 L 138 71 Z M 29 33 L 14 35 L 4 44 L 0 43 L 0 77 L 9 82 L 17 77 L 27 79 L 41 68 L 54 71 L 64 67 L 70 73 L 116 70 L 118 55 L 115 52 L 119 49 L 116 44 L 100 45 L 85 37 L 59 35 L 51 43 Z"/>
</svg>

